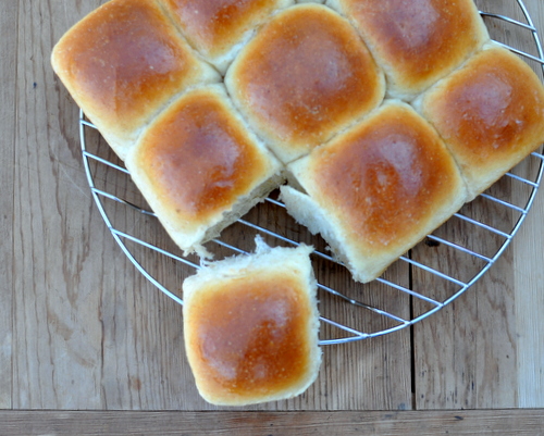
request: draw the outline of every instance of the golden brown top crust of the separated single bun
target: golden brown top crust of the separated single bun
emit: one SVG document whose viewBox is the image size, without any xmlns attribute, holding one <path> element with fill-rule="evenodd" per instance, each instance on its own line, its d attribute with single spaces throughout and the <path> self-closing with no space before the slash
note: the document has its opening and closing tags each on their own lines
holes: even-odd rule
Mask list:
<svg viewBox="0 0 544 436">
<path fill-rule="evenodd" d="M 302 286 L 260 272 L 200 289 L 186 345 L 200 389 L 251 399 L 288 390 L 308 373 L 311 309 Z"/>
</svg>

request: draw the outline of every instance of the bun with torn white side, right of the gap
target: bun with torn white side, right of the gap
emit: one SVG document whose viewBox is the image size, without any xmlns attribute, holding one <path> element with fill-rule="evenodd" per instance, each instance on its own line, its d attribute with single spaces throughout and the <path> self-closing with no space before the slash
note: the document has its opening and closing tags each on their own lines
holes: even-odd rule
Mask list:
<svg viewBox="0 0 544 436">
<path fill-rule="evenodd" d="M 283 186 L 287 211 L 360 282 L 376 278 L 467 199 L 436 132 L 397 101 L 288 169 L 306 192 Z"/>
</svg>

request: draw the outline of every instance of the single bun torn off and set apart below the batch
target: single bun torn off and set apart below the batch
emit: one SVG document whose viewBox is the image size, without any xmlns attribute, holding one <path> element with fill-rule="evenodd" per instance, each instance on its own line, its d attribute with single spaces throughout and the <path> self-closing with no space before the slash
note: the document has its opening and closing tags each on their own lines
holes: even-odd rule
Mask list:
<svg viewBox="0 0 544 436">
<path fill-rule="evenodd" d="M 312 248 L 257 242 L 255 254 L 214 262 L 183 284 L 187 358 L 213 404 L 294 397 L 319 373 Z"/>
</svg>

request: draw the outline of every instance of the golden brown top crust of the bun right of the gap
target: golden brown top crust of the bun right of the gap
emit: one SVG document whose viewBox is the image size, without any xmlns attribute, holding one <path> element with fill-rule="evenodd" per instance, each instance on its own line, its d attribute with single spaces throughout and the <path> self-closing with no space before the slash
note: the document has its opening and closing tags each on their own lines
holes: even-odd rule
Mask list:
<svg viewBox="0 0 544 436">
<path fill-rule="evenodd" d="M 358 244 L 373 252 L 412 238 L 459 185 L 438 136 L 401 105 L 382 111 L 312 159 L 311 190 L 334 204 Z"/>
</svg>

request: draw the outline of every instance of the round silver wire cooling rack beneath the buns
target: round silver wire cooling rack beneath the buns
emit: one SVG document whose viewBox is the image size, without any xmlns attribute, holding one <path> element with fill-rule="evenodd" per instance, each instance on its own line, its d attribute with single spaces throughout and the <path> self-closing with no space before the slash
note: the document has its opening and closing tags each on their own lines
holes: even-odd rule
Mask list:
<svg viewBox="0 0 544 436">
<path fill-rule="evenodd" d="M 481 11 L 481 15 L 494 40 L 526 59 L 539 74 L 543 72 L 537 30 L 521 0 L 496 2 L 493 11 Z M 527 49 L 528 41 L 533 52 Z M 199 267 L 198 259 L 183 257 L 173 245 L 127 170 L 83 112 L 79 133 L 89 187 L 113 238 L 147 279 L 183 304 L 182 283 Z M 533 152 L 370 284 L 353 282 L 327 253 L 324 241 L 298 226 L 274 194 L 208 246 L 222 258 L 250 251 L 256 234 L 270 245 L 314 245 L 321 345 L 381 336 L 437 312 L 497 262 L 531 209 L 543 165 L 542 151 Z"/>
</svg>

